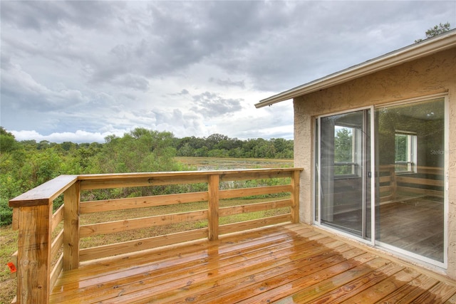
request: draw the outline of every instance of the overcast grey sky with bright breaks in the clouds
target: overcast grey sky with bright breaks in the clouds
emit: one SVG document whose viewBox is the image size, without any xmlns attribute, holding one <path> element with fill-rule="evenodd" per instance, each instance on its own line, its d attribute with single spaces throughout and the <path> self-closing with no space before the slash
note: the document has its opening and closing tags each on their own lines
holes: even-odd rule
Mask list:
<svg viewBox="0 0 456 304">
<path fill-rule="evenodd" d="M 293 138 L 254 104 L 456 26 L 456 1 L 1 1 L 0 125 L 17 140 Z"/>
</svg>

